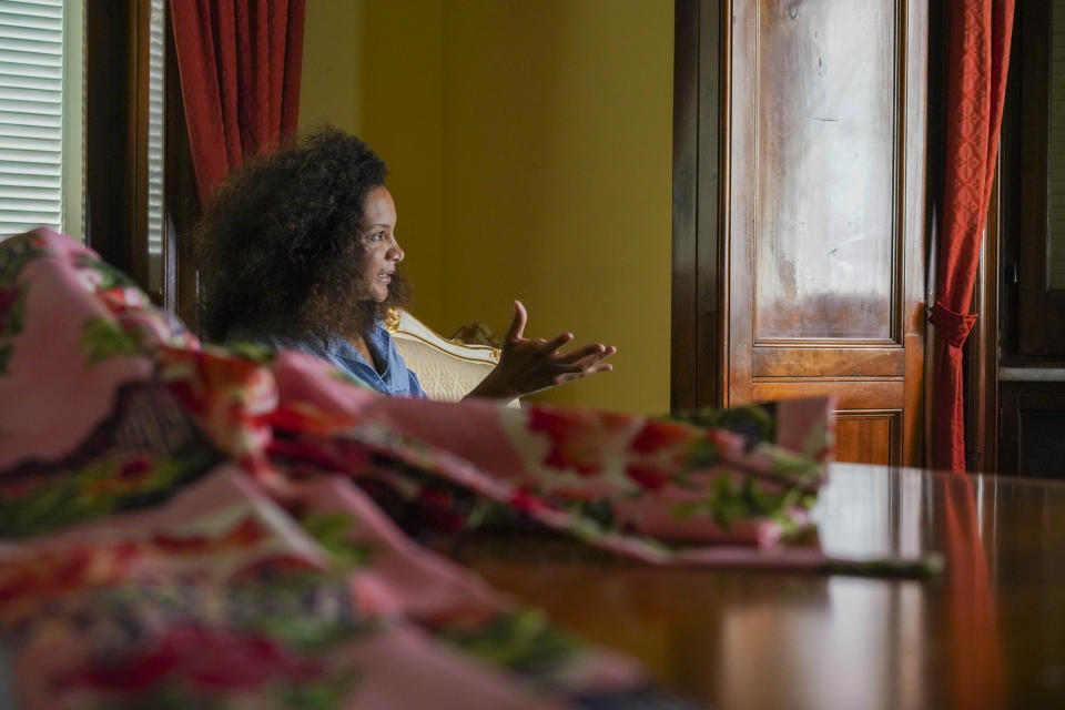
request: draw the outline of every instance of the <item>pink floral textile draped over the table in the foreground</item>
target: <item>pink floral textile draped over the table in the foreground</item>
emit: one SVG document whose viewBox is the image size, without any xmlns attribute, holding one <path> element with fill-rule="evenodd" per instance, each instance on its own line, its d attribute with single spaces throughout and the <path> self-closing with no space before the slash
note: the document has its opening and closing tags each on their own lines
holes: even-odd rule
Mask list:
<svg viewBox="0 0 1065 710">
<path fill-rule="evenodd" d="M 787 559 L 832 442 L 825 400 L 385 397 L 201 346 L 43 229 L 0 244 L 0 648 L 30 709 L 687 707 L 417 540 Z"/>
</svg>

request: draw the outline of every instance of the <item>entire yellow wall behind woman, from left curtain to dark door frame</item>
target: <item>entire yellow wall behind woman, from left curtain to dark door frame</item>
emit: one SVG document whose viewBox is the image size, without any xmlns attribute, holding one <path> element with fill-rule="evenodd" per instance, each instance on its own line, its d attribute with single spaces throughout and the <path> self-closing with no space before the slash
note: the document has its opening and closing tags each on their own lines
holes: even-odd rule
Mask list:
<svg viewBox="0 0 1065 710">
<path fill-rule="evenodd" d="M 669 406 L 672 4 L 307 3 L 301 126 L 388 162 L 415 312 L 618 346 L 544 399 Z"/>
</svg>

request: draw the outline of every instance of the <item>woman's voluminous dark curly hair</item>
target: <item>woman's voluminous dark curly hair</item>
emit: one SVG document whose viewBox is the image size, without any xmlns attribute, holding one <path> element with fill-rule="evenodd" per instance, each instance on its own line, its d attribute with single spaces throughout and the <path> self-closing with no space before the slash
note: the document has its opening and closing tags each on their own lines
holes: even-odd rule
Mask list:
<svg viewBox="0 0 1065 710">
<path fill-rule="evenodd" d="M 332 126 L 232 173 L 194 235 L 204 337 L 223 339 L 236 325 L 351 337 L 407 304 L 398 273 L 384 303 L 357 296 L 366 196 L 387 174 L 369 146 Z"/>
</svg>

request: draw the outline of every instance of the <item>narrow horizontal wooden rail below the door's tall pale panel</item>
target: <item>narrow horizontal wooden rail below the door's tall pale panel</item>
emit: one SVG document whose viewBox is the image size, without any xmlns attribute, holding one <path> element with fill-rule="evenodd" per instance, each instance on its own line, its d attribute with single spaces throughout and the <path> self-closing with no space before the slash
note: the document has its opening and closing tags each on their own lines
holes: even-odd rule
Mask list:
<svg viewBox="0 0 1065 710">
<path fill-rule="evenodd" d="M 755 346 L 754 377 L 902 377 L 905 358 L 899 347 Z"/>
</svg>

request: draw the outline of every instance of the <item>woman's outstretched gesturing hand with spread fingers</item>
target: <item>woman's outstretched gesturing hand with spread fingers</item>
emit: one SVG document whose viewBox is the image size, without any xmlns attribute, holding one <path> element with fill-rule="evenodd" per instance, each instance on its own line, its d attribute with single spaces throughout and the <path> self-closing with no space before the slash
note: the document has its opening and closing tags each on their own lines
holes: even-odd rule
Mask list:
<svg viewBox="0 0 1065 710">
<path fill-rule="evenodd" d="M 569 353 L 559 353 L 558 348 L 574 339 L 574 334 L 562 333 L 550 341 L 527 338 L 524 333 L 528 317 L 521 302 L 515 301 L 514 321 L 504 339 L 499 364 L 469 396 L 514 399 L 613 369 L 602 361 L 613 355 L 616 347 L 592 343 Z"/>
</svg>

